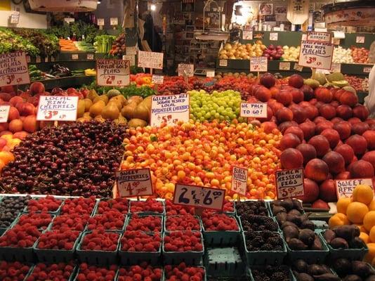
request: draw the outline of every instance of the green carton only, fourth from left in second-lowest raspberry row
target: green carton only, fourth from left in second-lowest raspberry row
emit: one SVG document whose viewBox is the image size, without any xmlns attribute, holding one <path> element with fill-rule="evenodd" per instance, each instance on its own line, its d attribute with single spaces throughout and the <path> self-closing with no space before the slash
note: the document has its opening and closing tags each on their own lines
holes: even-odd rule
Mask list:
<svg viewBox="0 0 375 281">
<path fill-rule="evenodd" d="M 154 235 L 154 233 L 146 233 L 147 235 Z M 162 238 L 162 233 L 159 233 Z M 124 236 L 121 235 L 121 238 Z M 143 261 L 147 261 L 150 265 L 154 266 L 159 264 L 162 258 L 162 241 L 158 251 L 121 251 L 121 239 L 119 242 L 119 257 L 122 266 L 135 266 Z"/>
</svg>

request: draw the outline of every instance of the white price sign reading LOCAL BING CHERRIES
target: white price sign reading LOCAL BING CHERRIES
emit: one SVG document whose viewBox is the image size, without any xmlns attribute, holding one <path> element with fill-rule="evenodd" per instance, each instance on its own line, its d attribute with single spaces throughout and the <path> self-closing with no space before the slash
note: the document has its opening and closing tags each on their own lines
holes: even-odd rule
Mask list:
<svg viewBox="0 0 375 281">
<path fill-rule="evenodd" d="M 40 96 L 37 120 L 76 121 L 77 96 Z"/>
</svg>

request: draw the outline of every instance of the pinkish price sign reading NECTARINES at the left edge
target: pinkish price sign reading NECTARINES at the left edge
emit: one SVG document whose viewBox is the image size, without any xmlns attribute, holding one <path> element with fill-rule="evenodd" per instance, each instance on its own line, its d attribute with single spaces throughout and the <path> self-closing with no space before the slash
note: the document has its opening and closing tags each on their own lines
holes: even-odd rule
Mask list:
<svg viewBox="0 0 375 281">
<path fill-rule="evenodd" d="M 0 55 L 0 86 L 29 84 L 29 70 L 25 52 Z"/>
</svg>

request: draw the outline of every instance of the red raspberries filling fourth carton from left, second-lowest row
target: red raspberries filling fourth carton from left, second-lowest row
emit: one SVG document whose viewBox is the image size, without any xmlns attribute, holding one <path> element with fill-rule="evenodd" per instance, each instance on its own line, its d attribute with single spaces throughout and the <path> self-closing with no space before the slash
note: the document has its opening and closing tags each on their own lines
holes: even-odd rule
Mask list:
<svg viewBox="0 0 375 281">
<path fill-rule="evenodd" d="M 159 251 L 161 242 L 160 233 L 126 230 L 121 238 L 121 251 Z"/>
</svg>

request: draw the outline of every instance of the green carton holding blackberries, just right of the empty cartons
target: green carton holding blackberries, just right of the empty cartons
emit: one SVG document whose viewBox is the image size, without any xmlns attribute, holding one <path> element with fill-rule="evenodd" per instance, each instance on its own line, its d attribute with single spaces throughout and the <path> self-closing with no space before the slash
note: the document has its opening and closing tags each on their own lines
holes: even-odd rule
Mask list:
<svg viewBox="0 0 375 281">
<path fill-rule="evenodd" d="M 277 233 L 282 237 L 281 233 Z M 246 247 L 245 233 L 242 233 L 242 243 L 246 256 L 247 266 L 263 266 L 267 265 L 281 265 L 287 256 L 287 247 L 282 237 L 283 250 L 282 251 L 249 251 Z"/>
</svg>

